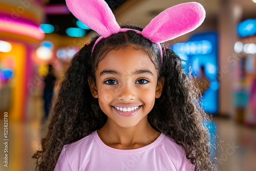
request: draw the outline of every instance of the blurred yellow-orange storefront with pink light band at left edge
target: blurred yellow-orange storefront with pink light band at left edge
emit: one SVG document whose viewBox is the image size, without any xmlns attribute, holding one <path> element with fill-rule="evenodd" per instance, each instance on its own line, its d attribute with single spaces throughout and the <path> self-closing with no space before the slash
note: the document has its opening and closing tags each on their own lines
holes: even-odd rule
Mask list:
<svg viewBox="0 0 256 171">
<path fill-rule="evenodd" d="M 39 24 L 44 19 L 37 0 L 2 0 L 0 6 L 0 111 L 9 119 L 25 119 L 32 56 L 45 38 Z"/>
</svg>

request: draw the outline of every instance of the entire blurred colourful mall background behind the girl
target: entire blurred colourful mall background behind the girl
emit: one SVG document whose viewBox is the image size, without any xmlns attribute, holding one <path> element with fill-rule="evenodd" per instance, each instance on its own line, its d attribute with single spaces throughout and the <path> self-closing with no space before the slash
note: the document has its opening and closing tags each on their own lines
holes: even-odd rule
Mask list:
<svg viewBox="0 0 256 171">
<path fill-rule="evenodd" d="M 105 1 L 119 24 L 141 27 L 164 9 L 189 2 Z M 202 26 L 165 45 L 197 77 L 220 170 L 255 171 L 256 0 L 195 1 L 206 10 Z M 65 0 L 0 0 L 0 170 L 34 170 L 31 156 L 46 130 L 58 80 L 95 34 Z"/>
</svg>

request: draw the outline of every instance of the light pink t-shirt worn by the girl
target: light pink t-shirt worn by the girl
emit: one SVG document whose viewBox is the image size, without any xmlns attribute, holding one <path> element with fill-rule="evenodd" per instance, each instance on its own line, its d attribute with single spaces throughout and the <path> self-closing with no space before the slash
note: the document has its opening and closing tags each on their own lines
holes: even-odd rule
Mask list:
<svg viewBox="0 0 256 171">
<path fill-rule="evenodd" d="M 184 149 L 164 134 L 136 149 L 116 149 L 105 145 L 97 131 L 62 148 L 55 171 L 190 171 L 195 165 Z"/>
</svg>

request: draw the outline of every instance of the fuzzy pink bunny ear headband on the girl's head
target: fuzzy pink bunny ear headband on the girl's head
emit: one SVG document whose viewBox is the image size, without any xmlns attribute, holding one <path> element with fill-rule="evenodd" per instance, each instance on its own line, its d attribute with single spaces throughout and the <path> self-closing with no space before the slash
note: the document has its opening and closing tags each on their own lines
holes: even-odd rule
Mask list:
<svg viewBox="0 0 256 171">
<path fill-rule="evenodd" d="M 101 35 L 96 40 L 93 49 L 102 38 L 133 30 L 157 44 L 161 57 L 163 56 L 161 42 L 195 30 L 205 18 L 205 10 L 201 4 L 196 2 L 179 4 L 161 12 L 140 32 L 120 28 L 110 7 L 103 0 L 66 0 L 66 3 L 77 19 Z"/>
</svg>

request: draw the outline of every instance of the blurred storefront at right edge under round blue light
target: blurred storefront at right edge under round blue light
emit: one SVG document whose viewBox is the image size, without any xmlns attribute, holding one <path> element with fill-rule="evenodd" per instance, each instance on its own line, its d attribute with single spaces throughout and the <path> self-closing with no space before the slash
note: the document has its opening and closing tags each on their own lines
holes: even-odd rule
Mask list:
<svg viewBox="0 0 256 171">
<path fill-rule="evenodd" d="M 237 33 L 233 103 L 236 120 L 251 125 L 256 124 L 256 18 L 239 23 Z"/>
</svg>

